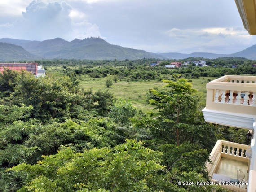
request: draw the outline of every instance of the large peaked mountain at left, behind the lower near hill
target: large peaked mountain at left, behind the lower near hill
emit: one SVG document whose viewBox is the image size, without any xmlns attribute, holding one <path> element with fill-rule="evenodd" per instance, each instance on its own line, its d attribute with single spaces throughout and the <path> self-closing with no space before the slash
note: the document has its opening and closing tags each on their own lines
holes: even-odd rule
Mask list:
<svg viewBox="0 0 256 192">
<path fill-rule="evenodd" d="M 132 48 L 124 48 L 113 45 L 101 38 L 86 38 L 83 40 L 75 39 L 71 42 L 61 38 L 45 40 L 45 41 L 28 41 L 3 38 L 0 42 L 20 45 L 28 52 L 43 58 L 53 59 L 91 59 L 91 60 L 124 60 L 124 59 L 142 59 L 142 58 L 158 58 L 163 56 L 137 50 Z"/>
</svg>

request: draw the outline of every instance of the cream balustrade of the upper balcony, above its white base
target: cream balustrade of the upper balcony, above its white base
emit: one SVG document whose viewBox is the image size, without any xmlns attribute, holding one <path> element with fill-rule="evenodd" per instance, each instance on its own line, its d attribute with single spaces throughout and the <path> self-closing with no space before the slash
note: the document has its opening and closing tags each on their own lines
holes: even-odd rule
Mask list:
<svg viewBox="0 0 256 192">
<path fill-rule="evenodd" d="M 255 82 L 254 76 L 225 75 L 207 83 L 206 109 L 256 115 Z"/>
</svg>

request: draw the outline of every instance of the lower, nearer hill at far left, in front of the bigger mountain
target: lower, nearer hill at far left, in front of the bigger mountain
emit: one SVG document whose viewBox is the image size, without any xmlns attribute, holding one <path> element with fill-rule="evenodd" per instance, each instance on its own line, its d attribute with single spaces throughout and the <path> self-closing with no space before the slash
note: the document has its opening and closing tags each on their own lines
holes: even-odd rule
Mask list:
<svg viewBox="0 0 256 192">
<path fill-rule="evenodd" d="M 0 42 L 0 61 L 32 60 L 40 58 L 14 44 Z"/>
</svg>

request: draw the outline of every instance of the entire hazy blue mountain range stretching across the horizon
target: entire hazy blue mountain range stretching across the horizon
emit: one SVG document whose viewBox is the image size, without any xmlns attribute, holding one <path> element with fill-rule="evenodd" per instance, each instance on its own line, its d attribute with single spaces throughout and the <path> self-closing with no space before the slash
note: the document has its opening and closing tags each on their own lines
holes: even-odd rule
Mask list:
<svg viewBox="0 0 256 192">
<path fill-rule="evenodd" d="M 233 54 L 215 54 L 194 52 L 190 54 L 169 52 L 152 53 L 144 50 L 124 48 L 113 45 L 101 38 L 74 39 L 66 41 L 55 38 L 44 41 L 31 41 L 2 38 L 0 39 L 0 61 L 34 60 L 34 59 L 89 59 L 89 60 L 124 60 L 124 59 L 184 59 L 188 57 L 203 57 L 214 59 L 219 57 L 245 57 L 256 59 L 256 45 Z"/>
</svg>

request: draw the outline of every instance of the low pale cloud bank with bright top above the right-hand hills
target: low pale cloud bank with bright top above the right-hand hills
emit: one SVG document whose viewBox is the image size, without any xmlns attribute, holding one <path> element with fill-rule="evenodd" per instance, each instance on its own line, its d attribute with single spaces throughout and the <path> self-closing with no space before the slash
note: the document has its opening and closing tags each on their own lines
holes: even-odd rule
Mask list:
<svg viewBox="0 0 256 192">
<path fill-rule="evenodd" d="M 171 52 L 176 52 L 175 48 L 178 48 L 181 52 L 190 50 L 190 52 L 229 54 L 249 47 L 253 38 L 241 27 L 172 28 L 166 33 L 168 34 L 169 42 L 172 42 L 172 44 L 179 43 Z"/>
</svg>

